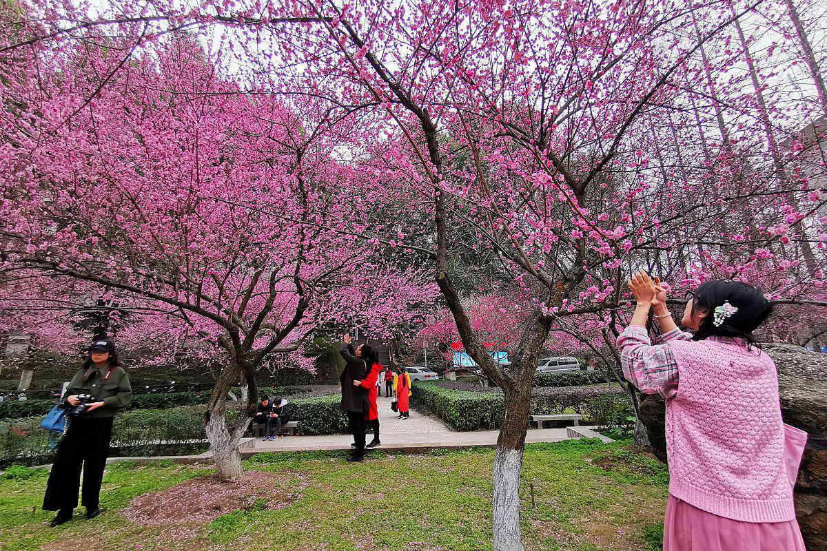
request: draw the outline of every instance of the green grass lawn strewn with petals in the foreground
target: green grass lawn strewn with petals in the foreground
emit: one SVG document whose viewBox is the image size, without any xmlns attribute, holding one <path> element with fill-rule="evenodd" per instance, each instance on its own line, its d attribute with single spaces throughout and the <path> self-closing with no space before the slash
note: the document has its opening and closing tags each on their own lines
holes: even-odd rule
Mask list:
<svg viewBox="0 0 827 551">
<path fill-rule="evenodd" d="M 279 508 L 268 508 L 265 494 L 211 522 L 151 526 L 118 510 L 211 469 L 118 463 L 103 482 L 106 512 L 57 529 L 48 525 L 53 513 L 39 510 L 45 470 L 12 468 L 0 480 L 0 549 L 491 549 L 493 459 L 492 449 L 375 454 L 359 464 L 344 463 L 342 454 L 259 454 L 246 469 L 275 473 L 272 495 L 287 496 Z M 529 444 L 521 495 L 527 549 L 660 547 L 666 469 L 623 444 Z"/>
</svg>

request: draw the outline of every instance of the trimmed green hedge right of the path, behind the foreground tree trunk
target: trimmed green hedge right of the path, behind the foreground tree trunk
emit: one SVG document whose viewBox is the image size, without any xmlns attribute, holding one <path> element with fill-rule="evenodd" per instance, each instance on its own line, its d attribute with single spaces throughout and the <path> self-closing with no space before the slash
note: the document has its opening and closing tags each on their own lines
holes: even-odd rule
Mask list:
<svg viewBox="0 0 827 551">
<path fill-rule="evenodd" d="M 502 392 L 458 391 L 433 382 L 416 382 L 412 391 L 416 406 L 454 430 L 493 429 L 503 418 Z M 581 414 L 588 425 L 615 425 L 631 415 L 632 405 L 620 387 L 549 387 L 534 392 L 529 411 L 531 415 L 553 415 L 566 409 Z"/>
</svg>

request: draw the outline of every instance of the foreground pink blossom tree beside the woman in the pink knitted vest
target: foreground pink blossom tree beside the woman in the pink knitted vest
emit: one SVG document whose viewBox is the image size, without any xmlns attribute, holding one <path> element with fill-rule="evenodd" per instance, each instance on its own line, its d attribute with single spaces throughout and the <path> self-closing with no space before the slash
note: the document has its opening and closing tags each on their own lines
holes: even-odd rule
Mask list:
<svg viewBox="0 0 827 551">
<path fill-rule="evenodd" d="M 522 549 L 519 477 L 538 352 L 555 330 L 576 333 L 578 316 L 610 341 L 624 324 L 629 273 L 657 273 L 675 301 L 723 277 L 760 283 L 778 302 L 824 305 L 825 194 L 814 182 L 825 163 L 801 154 L 799 135 L 820 102 L 778 78 L 802 51 L 812 69 L 801 37 L 813 40 L 786 3 L 150 2 L 100 21 L 38 9 L 31 38 L 7 51 L 112 21 L 135 26 L 138 41 L 220 27 L 232 63 L 266 76 L 251 90 L 333 106 L 347 131 L 329 151 L 347 150 L 361 174 L 343 178 L 337 207 L 360 216 L 338 225 L 262 202 L 262 223 L 289 217 L 429 263 L 466 351 L 504 390 L 495 549 Z M 751 36 L 767 20 L 786 31 L 756 49 Z M 404 216 L 389 221 L 394 213 Z M 471 321 L 458 268 L 468 264 L 508 289 L 516 306 L 507 310 L 520 312 L 508 373 Z"/>
</svg>

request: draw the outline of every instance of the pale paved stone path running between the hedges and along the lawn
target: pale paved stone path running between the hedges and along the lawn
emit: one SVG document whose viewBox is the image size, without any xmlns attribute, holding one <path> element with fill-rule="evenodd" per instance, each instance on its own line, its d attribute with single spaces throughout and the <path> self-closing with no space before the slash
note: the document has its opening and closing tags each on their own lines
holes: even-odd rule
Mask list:
<svg viewBox="0 0 827 551">
<path fill-rule="evenodd" d="M 390 409 L 390 398 L 380 397 L 379 408 L 380 439 L 378 449 L 385 451 L 418 452 L 435 448 L 470 448 L 474 446 L 492 446 L 497 443 L 497 430 L 480 430 L 475 432 L 457 432 L 433 417 L 425 416 L 412 410 L 410 418 L 397 419 L 397 414 Z M 367 435 L 367 440 L 373 434 Z M 533 429 L 528 431 L 526 442 L 558 442 L 567 439 L 566 429 Z M 286 436 L 277 440 L 247 440 L 242 444 L 241 454 L 250 456 L 261 452 L 298 452 L 350 449 L 351 435 L 327 436 Z M 207 454 L 205 454 L 207 455 Z"/>
</svg>

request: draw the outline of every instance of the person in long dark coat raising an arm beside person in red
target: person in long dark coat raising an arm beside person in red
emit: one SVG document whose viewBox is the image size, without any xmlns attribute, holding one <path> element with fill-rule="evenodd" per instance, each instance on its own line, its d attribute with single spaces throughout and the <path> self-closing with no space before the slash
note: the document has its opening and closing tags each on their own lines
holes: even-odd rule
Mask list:
<svg viewBox="0 0 827 551">
<path fill-rule="evenodd" d="M 365 415 L 370 409 L 366 388 L 361 387 L 361 381 L 367 374 L 367 363 L 364 358 L 370 356 L 370 346 L 360 344 L 356 350 L 351 344 L 351 335 L 345 335 L 344 344 L 339 354 L 345 359 L 346 365 L 339 377 L 342 384 L 342 410 L 347 412 L 347 424 L 353 435 L 356 446 L 348 461 L 362 461 L 365 458 Z"/>
</svg>

